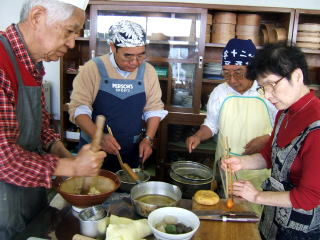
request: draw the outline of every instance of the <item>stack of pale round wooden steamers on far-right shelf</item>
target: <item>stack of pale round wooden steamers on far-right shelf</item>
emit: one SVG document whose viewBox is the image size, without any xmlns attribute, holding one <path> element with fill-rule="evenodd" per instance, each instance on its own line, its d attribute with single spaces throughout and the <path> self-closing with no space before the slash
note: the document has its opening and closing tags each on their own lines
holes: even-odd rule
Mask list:
<svg viewBox="0 0 320 240">
<path fill-rule="evenodd" d="M 320 49 L 320 24 L 299 24 L 296 45 L 301 48 Z"/>
</svg>

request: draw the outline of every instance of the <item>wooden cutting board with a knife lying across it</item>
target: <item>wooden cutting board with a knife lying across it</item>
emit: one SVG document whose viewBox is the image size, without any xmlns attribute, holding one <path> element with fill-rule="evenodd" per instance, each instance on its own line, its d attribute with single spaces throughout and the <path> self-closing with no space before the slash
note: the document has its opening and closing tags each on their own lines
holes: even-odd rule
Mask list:
<svg viewBox="0 0 320 240">
<path fill-rule="evenodd" d="M 247 201 L 244 201 L 242 199 L 234 199 L 234 202 L 235 204 L 231 211 L 251 211 Z M 225 199 L 221 199 L 219 203 L 213 206 L 197 204 L 194 200 L 192 200 L 192 209 L 223 209 L 228 211 Z M 258 231 L 258 223 L 201 220 L 200 227 L 192 239 L 261 240 L 261 237 Z"/>
</svg>

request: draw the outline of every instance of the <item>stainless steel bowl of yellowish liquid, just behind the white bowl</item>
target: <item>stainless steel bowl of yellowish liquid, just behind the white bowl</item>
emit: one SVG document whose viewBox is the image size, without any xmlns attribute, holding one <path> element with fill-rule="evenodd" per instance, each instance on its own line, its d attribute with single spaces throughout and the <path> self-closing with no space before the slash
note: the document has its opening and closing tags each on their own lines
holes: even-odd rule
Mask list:
<svg viewBox="0 0 320 240">
<path fill-rule="evenodd" d="M 161 195 L 166 196 L 174 200 L 171 204 L 159 205 L 152 203 L 145 203 L 137 200 L 142 196 L 147 195 Z M 131 189 L 131 201 L 136 212 L 143 216 L 148 217 L 149 213 L 160 207 L 174 207 L 177 206 L 181 200 L 181 190 L 178 186 L 165 183 L 150 181 L 145 183 L 139 183 Z"/>
</svg>

